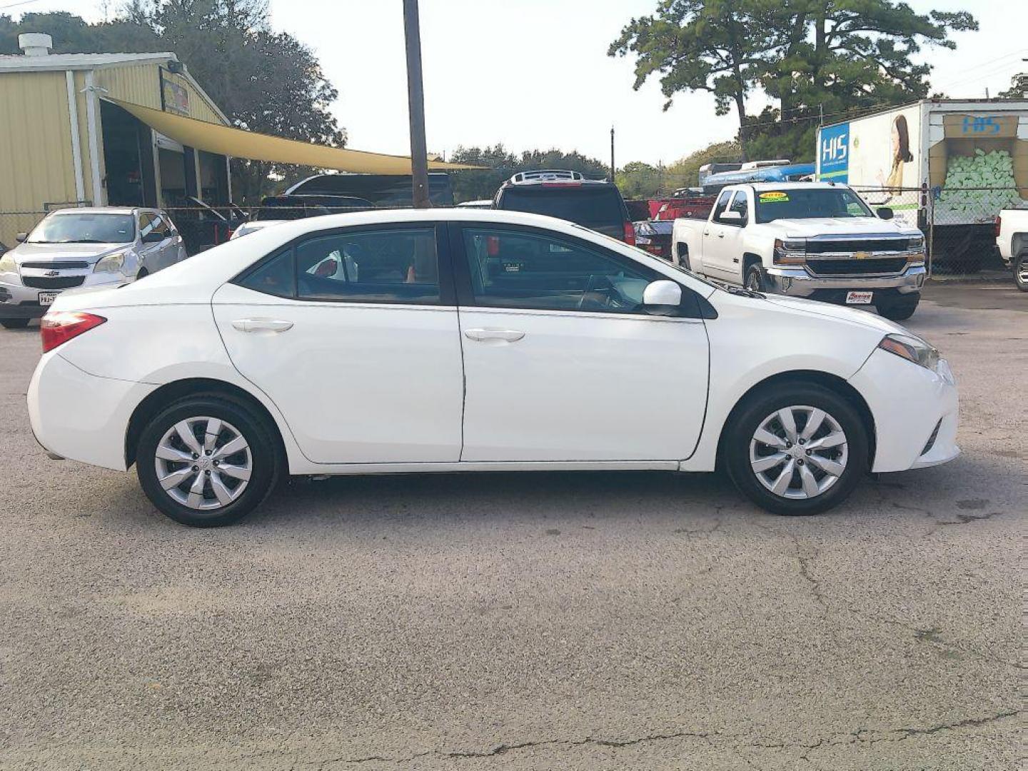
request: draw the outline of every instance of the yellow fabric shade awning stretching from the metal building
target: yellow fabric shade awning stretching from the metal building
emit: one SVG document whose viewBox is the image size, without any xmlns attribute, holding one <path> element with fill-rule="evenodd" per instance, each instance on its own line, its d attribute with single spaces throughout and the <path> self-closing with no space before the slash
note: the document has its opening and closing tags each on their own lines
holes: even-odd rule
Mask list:
<svg viewBox="0 0 1028 771">
<path fill-rule="evenodd" d="M 276 163 L 298 163 L 357 174 L 410 174 L 410 158 L 406 155 L 384 155 L 377 152 L 347 150 L 342 147 L 313 145 L 309 142 L 300 142 L 295 139 L 272 137 L 228 125 L 208 123 L 204 120 L 175 115 L 116 99 L 105 99 L 128 111 L 154 131 L 197 150 L 230 155 L 235 158 L 266 160 Z M 429 161 L 429 169 L 433 171 L 480 168 L 464 163 L 446 163 L 440 160 Z"/>
</svg>

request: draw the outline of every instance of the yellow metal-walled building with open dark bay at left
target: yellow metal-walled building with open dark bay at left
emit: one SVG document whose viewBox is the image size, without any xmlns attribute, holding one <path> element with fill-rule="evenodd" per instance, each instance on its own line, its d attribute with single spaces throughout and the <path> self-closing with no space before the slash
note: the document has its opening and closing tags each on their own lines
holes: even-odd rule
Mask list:
<svg viewBox="0 0 1028 771">
<path fill-rule="evenodd" d="M 0 56 L 0 243 L 69 206 L 183 206 L 231 197 L 225 155 L 154 131 L 116 102 L 229 125 L 174 53 L 50 53 L 21 35 Z"/>
</svg>

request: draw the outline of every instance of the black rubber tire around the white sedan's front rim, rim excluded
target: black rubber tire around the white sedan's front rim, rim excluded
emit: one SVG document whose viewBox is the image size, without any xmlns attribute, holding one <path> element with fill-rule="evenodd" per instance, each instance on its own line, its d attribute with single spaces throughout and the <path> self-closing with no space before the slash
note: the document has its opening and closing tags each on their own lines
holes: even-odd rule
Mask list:
<svg viewBox="0 0 1028 771">
<path fill-rule="evenodd" d="M 772 492 L 758 479 L 758 473 L 750 466 L 750 442 L 758 428 L 777 410 L 799 406 L 813 407 L 828 413 L 845 434 L 848 453 L 844 470 L 836 477 L 835 482 L 827 486 L 823 492 L 806 499 L 785 498 Z M 802 433 L 804 427 L 799 421 L 796 426 Z M 827 420 L 823 430 L 831 431 Z M 812 439 L 816 440 L 819 435 L 819 432 L 814 433 Z M 797 442 L 788 450 L 782 451 L 793 452 L 793 447 L 796 447 L 795 451 L 800 453 L 800 444 L 802 443 Z M 847 399 L 818 383 L 790 380 L 770 386 L 747 397 L 725 429 L 722 456 L 729 476 L 742 494 L 774 514 L 801 516 L 820 514 L 846 500 L 853 487 L 867 475 L 868 447 L 868 430 L 859 413 Z M 828 452 L 831 453 L 832 450 Z M 791 462 L 794 464 L 791 484 L 799 485 L 798 478 L 802 471 L 800 466 L 804 464 L 812 474 L 823 473 L 807 460 L 806 455 L 809 453 L 809 450 L 804 450 L 799 458 Z M 784 467 L 781 467 L 781 471 L 784 471 Z M 767 473 L 771 474 L 772 471 Z"/>
</svg>

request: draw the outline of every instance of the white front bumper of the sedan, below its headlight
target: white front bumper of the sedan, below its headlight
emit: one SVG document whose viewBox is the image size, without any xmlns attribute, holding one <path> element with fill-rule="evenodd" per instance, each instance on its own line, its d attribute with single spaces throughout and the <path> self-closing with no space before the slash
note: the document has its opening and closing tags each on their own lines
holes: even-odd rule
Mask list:
<svg viewBox="0 0 1028 771">
<path fill-rule="evenodd" d="M 945 359 L 930 370 L 876 348 L 849 382 L 875 421 L 872 471 L 938 466 L 960 454 L 957 387 Z"/>
</svg>

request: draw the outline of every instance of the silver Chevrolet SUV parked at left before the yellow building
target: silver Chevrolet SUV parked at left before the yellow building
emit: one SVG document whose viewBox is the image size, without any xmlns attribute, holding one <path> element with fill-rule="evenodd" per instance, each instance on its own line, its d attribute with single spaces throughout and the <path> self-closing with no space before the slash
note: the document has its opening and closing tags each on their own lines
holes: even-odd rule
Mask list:
<svg viewBox="0 0 1028 771">
<path fill-rule="evenodd" d="M 186 258 L 159 209 L 101 207 L 51 212 L 0 256 L 0 326 L 25 327 L 64 290 L 142 279 Z"/>
</svg>

